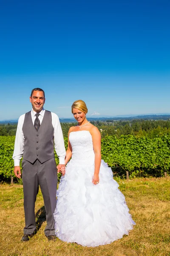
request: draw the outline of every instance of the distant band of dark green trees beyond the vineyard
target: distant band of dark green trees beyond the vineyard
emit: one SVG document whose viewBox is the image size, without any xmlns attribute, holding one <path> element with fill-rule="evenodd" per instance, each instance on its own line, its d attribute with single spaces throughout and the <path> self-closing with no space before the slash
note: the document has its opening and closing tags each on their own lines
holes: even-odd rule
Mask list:
<svg viewBox="0 0 170 256">
<path fill-rule="evenodd" d="M 106 136 L 133 135 L 136 137 L 148 137 L 150 139 L 159 135 L 170 134 L 170 120 L 144 120 L 134 119 L 130 121 L 122 120 L 106 120 L 91 121 L 92 124 L 99 128 L 102 138 Z M 68 130 L 71 126 L 77 123 L 61 122 L 62 132 L 64 137 L 68 137 Z M 14 136 L 17 131 L 17 124 L 0 125 L 0 136 Z"/>
</svg>

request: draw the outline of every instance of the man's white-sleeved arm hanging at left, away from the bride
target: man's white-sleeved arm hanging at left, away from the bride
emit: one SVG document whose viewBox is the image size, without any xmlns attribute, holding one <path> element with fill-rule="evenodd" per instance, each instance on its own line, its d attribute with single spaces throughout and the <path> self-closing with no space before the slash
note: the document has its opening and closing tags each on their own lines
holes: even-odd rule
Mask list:
<svg viewBox="0 0 170 256">
<path fill-rule="evenodd" d="M 25 118 L 25 115 L 22 115 L 18 119 L 17 132 L 16 132 L 15 144 L 14 144 L 14 153 L 12 157 L 14 159 L 14 174 L 17 178 L 21 177 L 20 159 L 22 158 L 23 151 L 24 151 L 24 135 L 23 135 L 24 118 Z"/>
</svg>

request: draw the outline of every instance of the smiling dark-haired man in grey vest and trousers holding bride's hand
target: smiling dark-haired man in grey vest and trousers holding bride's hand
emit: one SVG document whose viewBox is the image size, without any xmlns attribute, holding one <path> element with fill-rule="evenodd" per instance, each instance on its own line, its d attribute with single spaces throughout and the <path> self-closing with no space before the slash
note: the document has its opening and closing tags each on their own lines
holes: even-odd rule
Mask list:
<svg viewBox="0 0 170 256">
<path fill-rule="evenodd" d="M 14 145 L 14 174 L 21 177 L 24 193 L 25 223 L 21 241 L 28 241 L 36 233 L 35 201 L 40 189 L 44 199 L 46 221 L 45 236 L 55 240 L 54 210 L 56 207 L 57 170 L 54 147 L 59 157 L 58 172 L 65 174 L 65 145 L 59 118 L 43 108 L 45 93 L 40 88 L 31 91 L 32 110 L 20 116 Z"/>
</svg>

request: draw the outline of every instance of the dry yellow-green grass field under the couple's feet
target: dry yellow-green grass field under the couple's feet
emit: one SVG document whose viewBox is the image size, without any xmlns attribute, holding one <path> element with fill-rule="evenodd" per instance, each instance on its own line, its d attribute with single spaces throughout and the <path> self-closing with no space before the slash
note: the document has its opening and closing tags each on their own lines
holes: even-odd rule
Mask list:
<svg viewBox="0 0 170 256">
<path fill-rule="evenodd" d="M 0 185 L 0 256 L 170 256 L 170 178 L 120 180 L 119 189 L 136 222 L 129 236 L 99 247 L 82 247 L 44 235 L 42 194 L 36 201 L 37 234 L 22 243 L 22 185 Z"/>
</svg>

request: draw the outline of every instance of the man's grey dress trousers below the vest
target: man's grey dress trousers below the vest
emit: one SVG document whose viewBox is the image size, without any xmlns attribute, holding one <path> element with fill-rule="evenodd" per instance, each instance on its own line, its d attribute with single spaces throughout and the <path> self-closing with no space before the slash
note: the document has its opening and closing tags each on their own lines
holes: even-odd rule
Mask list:
<svg viewBox="0 0 170 256">
<path fill-rule="evenodd" d="M 55 234 L 54 230 L 54 211 L 56 208 L 57 191 L 57 169 L 55 158 L 45 163 L 36 160 L 34 164 L 23 159 L 23 192 L 24 192 L 24 212 L 25 223 L 24 235 L 30 235 L 36 230 L 35 221 L 35 201 L 39 190 L 42 192 L 46 211 L 47 225 L 45 236 Z"/>
</svg>

